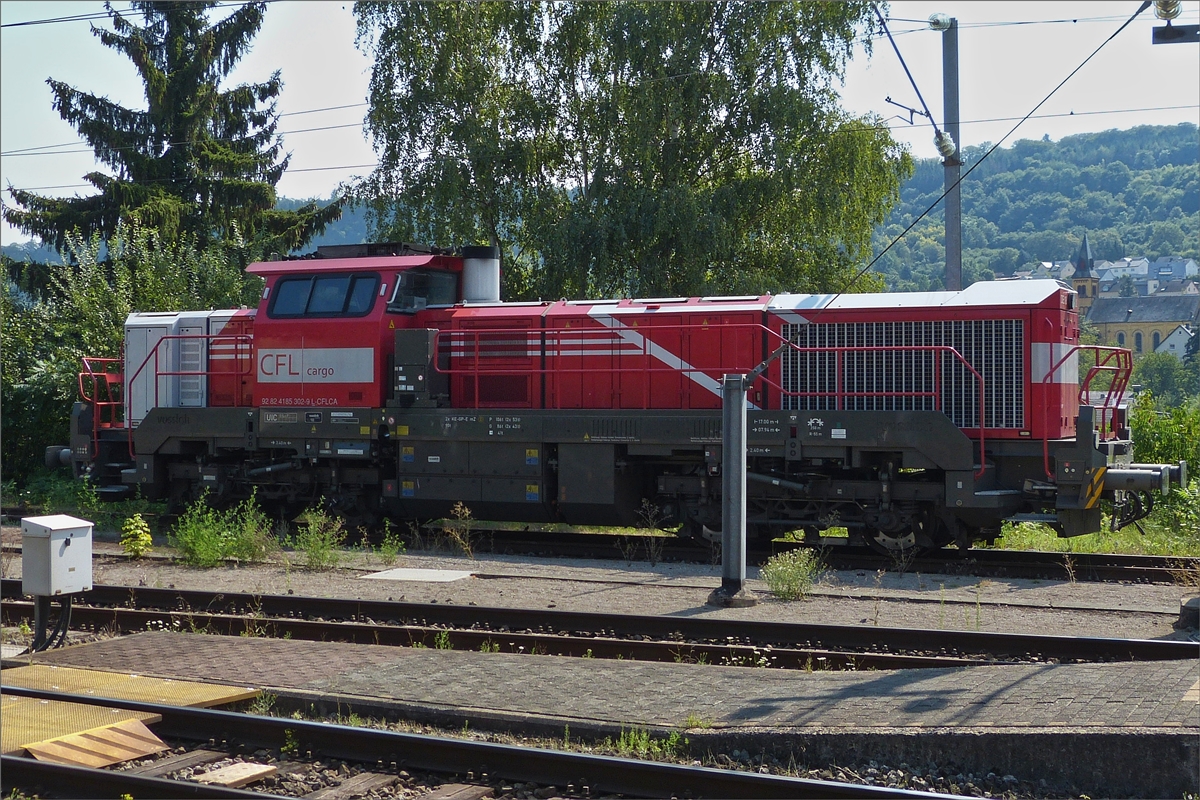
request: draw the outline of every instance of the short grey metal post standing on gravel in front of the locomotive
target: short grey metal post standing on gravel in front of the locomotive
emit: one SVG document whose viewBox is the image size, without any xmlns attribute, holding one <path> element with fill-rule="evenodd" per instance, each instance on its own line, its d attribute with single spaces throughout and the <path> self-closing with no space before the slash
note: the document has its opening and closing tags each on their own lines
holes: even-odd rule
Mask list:
<svg viewBox="0 0 1200 800">
<path fill-rule="evenodd" d="M 709 604 L 754 606 L 746 591 L 746 375 L 721 384 L 721 585 Z"/>
</svg>

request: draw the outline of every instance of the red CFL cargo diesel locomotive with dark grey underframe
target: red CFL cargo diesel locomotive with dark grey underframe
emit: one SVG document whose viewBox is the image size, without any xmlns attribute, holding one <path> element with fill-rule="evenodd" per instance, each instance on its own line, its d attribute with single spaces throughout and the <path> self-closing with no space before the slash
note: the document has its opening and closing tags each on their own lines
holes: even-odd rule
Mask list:
<svg viewBox="0 0 1200 800">
<path fill-rule="evenodd" d="M 257 492 L 368 522 L 720 527 L 721 378 L 750 389 L 754 536 L 845 527 L 970 546 L 1004 519 L 1066 536 L 1148 513 L 1186 465 L 1134 464 L 1128 350 L 1079 344 L 1056 281 L 920 294 L 500 302 L 498 252 L 320 248 L 257 263 L 257 308 L 136 313 L 86 359 L 71 449 L 106 497 Z M 1088 351 L 1080 381 L 1080 354 Z M 1092 378 L 1109 373 L 1102 392 Z M 1099 397 L 1093 404 L 1080 398 Z"/>
</svg>

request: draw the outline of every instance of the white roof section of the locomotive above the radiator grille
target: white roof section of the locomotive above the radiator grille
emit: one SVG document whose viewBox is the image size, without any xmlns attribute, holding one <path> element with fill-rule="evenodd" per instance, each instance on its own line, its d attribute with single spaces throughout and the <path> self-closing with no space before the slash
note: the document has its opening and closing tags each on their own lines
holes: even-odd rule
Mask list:
<svg viewBox="0 0 1200 800">
<path fill-rule="evenodd" d="M 930 308 L 947 306 L 1037 306 L 1066 287 L 1054 279 L 986 281 L 961 291 L 880 291 L 872 294 L 778 294 L 768 308 Z"/>
</svg>

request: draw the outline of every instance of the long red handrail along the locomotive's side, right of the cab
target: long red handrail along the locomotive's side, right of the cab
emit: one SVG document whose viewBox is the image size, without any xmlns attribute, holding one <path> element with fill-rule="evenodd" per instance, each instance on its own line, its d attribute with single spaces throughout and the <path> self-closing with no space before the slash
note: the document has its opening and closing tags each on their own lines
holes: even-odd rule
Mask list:
<svg viewBox="0 0 1200 800">
<path fill-rule="evenodd" d="M 446 357 L 454 359 L 468 359 L 473 363 L 469 367 L 452 367 L 449 363 L 442 366 L 434 362 L 434 371 L 443 374 L 469 374 L 475 379 L 475 391 L 474 391 L 474 407 L 479 408 L 479 375 L 529 375 L 529 374 L 548 374 L 548 373 L 588 373 L 594 372 L 593 367 L 570 367 L 556 365 L 553 368 L 546 366 L 535 367 L 533 365 L 520 365 L 520 366 L 487 366 L 482 367 L 481 361 L 485 359 L 496 360 L 532 360 L 534 357 L 540 357 L 542 355 L 550 354 L 551 350 L 554 355 L 560 355 L 564 344 L 568 347 L 582 347 L 583 341 L 587 338 L 595 338 L 604 341 L 606 343 L 612 343 L 612 349 L 608 355 L 619 357 L 623 351 L 626 355 L 640 355 L 646 357 L 652 357 L 653 347 L 658 347 L 655 342 L 649 341 L 647 337 L 641 336 L 641 331 L 653 330 L 653 331 L 695 331 L 697 325 L 647 325 L 641 329 L 632 329 L 632 332 L 637 335 L 637 338 L 642 339 L 641 344 L 631 338 L 620 337 L 622 331 L 611 327 L 602 329 L 578 329 L 578 327 L 479 327 L 479 329 L 455 329 L 455 330 L 443 330 L 437 333 L 437 351 L 439 357 L 445 355 Z M 714 326 L 715 327 L 715 326 Z M 766 325 L 757 323 L 738 323 L 738 324 L 722 324 L 721 330 L 731 329 L 743 329 L 752 330 L 755 332 L 762 331 L 769 337 L 774 337 L 780 343 L 786 344 L 792 351 L 798 354 L 833 354 L 835 357 L 835 389 L 833 391 L 793 391 L 785 389 L 779 383 L 772 380 L 767 374 L 762 374 L 760 380 L 764 385 L 772 386 L 780 392 L 781 396 L 787 397 L 826 397 L 833 398 L 834 409 L 833 410 L 845 410 L 845 401 L 847 398 L 869 398 L 869 397 L 928 397 L 934 401 L 934 410 L 942 409 L 942 359 L 935 357 L 932 360 L 932 384 L 931 389 L 928 391 L 848 391 L 842 386 L 842 373 L 845 372 L 844 356 L 847 353 L 930 353 L 953 356 L 962 367 L 970 372 L 972 378 L 978 386 L 978 432 L 979 432 L 979 469 L 974 471 L 976 477 L 982 477 L 986 471 L 986 391 L 984 385 L 983 375 L 971 365 L 966 357 L 959 353 L 955 348 L 947 344 L 908 344 L 908 345 L 827 345 L 827 347 L 800 347 L 790 339 L 785 339 L 782 336 L 770 330 Z M 619 337 L 619 341 L 613 341 L 613 335 Z M 481 336 L 492 337 L 488 341 L 481 341 Z M 506 337 L 506 338 L 494 338 L 494 337 Z M 469 353 L 457 351 L 456 349 L 466 350 L 473 344 L 473 350 Z M 514 353 L 511 350 L 499 350 L 493 353 L 487 353 L 480 348 L 481 344 L 511 347 L 517 345 L 523 348 L 523 351 L 518 350 Z M 445 345 L 445 347 L 443 347 Z M 634 347 L 635 350 L 629 350 L 623 348 Z M 574 354 L 572 354 L 574 355 Z M 583 351 L 580 350 L 578 355 L 583 357 Z M 604 355 L 596 353 L 594 355 Z M 674 354 L 666 354 L 670 356 L 670 361 L 677 363 L 668 363 L 666 366 L 637 366 L 623 368 L 620 366 L 612 367 L 612 372 L 636 372 L 636 373 L 680 373 L 685 377 L 695 379 L 696 375 L 703 375 L 713 381 L 719 381 L 720 375 L 727 372 L 749 372 L 752 365 L 745 367 L 722 365 L 719 367 L 696 367 L 694 365 L 686 363 L 680 356 Z M 656 356 L 659 360 L 666 360 L 666 356 Z M 646 407 L 649 407 L 648 395 L 649 395 L 649 381 L 644 381 L 644 393 L 647 395 Z M 976 428 L 965 428 L 967 431 Z"/>
</svg>

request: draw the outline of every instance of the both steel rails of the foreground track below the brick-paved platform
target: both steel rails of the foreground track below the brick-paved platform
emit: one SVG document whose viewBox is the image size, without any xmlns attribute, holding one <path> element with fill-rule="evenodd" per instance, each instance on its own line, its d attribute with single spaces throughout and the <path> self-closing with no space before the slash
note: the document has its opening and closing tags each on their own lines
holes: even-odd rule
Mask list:
<svg viewBox="0 0 1200 800">
<path fill-rule="evenodd" d="M 266 750 L 276 758 L 305 760 L 338 759 L 356 765 L 358 776 L 412 777 L 414 772 L 440 776 L 442 787 L 472 786 L 512 796 L 514 782 L 552 789 L 554 796 L 596 798 L 619 794 L 632 798 L 946 798 L 904 789 L 814 781 L 660 762 L 644 762 L 590 753 L 515 747 L 373 728 L 330 724 L 295 718 L 278 718 L 180 708 L 133 700 L 65 694 L 42 690 L 4 686 L 2 692 L 48 700 L 71 700 L 107 708 L 156 714 L 160 736 L 185 741 L 222 742 L 235 752 Z M 202 745 L 203 747 L 203 745 Z M 209 751 L 221 757 L 226 753 Z M 287 753 L 287 756 L 284 756 Z M 263 758 L 259 756 L 259 758 Z M 184 760 L 184 759 L 180 759 Z M 293 762 L 295 763 L 295 762 Z M 283 765 L 281 765 L 283 766 Z M 203 786 L 136 771 L 88 769 L 4 756 L 5 794 L 12 789 L 40 790 L 66 796 L 156 796 L 156 798 L 264 798 L 277 796 L 245 789 Z M 350 770 L 348 770 L 350 771 Z M 383 781 L 379 781 L 383 783 Z M 425 786 L 430 786 L 427 781 Z M 506 789 L 506 790 L 505 790 Z M 461 789 L 460 789 L 461 792 Z M 292 795 L 296 796 L 296 795 Z M 300 795 L 304 796 L 304 795 Z M 312 795 L 316 796 L 316 795 Z M 353 796 L 346 794 L 343 796 Z M 482 792 L 461 792 L 443 796 L 490 796 Z M 539 796 L 550 796 L 550 793 Z"/>
</svg>

